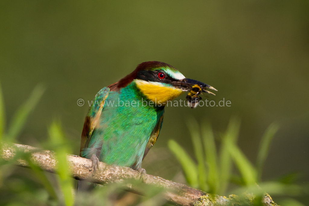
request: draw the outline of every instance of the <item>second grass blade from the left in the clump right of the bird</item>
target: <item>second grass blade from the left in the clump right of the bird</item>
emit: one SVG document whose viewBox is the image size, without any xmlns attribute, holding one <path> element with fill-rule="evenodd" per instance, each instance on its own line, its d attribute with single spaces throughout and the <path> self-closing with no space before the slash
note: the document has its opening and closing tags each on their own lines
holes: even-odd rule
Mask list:
<svg viewBox="0 0 309 206">
<path fill-rule="evenodd" d="M 193 150 L 195 157 L 197 159 L 197 170 L 198 170 L 198 182 L 199 188 L 203 191 L 208 190 L 208 185 L 206 183 L 206 169 L 205 169 L 205 161 L 204 161 L 204 152 L 201 142 L 200 128 L 198 126 L 198 122 L 195 119 L 191 119 L 187 122 L 191 140 L 193 143 Z"/>
</svg>

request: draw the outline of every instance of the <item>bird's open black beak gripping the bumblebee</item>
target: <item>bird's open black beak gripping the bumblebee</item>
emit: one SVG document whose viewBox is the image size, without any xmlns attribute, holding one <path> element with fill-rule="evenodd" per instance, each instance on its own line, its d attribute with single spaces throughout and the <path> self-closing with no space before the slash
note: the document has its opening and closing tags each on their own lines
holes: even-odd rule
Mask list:
<svg viewBox="0 0 309 206">
<path fill-rule="evenodd" d="M 202 92 L 205 92 L 205 93 L 208 93 L 208 94 L 212 94 L 212 95 L 215 95 L 214 93 L 210 92 L 210 91 L 207 91 L 206 89 L 209 88 L 209 89 L 212 89 L 212 90 L 215 90 L 215 91 L 218 91 L 216 90 L 214 87 L 208 85 L 208 84 L 205 84 L 203 82 L 199 82 L 197 80 L 194 80 L 194 79 L 188 79 L 188 78 L 184 78 L 184 79 L 180 79 L 179 81 L 177 82 L 172 82 L 172 84 L 178 88 L 180 88 L 181 90 L 183 91 L 189 91 L 192 89 L 192 86 L 193 85 L 198 85 L 201 87 L 202 89 Z"/>
</svg>

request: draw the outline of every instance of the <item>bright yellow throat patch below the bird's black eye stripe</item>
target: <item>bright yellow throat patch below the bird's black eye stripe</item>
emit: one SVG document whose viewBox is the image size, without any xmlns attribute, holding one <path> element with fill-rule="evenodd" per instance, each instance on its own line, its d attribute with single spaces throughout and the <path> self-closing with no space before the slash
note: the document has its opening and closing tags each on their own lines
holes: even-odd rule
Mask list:
<svg viewBox="0 0 309 206">
<path fill-rule="evenodd" d="M 160 82 L 147 82 L 144 80 L 134 80 L 139 90 L 150 100 L 165 104 L 167 101 L 173 100 L 184 93 L 183 90 L 166 86 Z"/>
</svg>

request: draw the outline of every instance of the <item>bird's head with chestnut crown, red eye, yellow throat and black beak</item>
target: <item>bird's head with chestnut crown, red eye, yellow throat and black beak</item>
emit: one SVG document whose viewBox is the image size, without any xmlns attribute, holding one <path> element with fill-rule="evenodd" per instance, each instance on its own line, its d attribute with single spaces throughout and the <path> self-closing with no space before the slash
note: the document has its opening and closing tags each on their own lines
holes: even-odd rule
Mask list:
<svg viewBox="0 0 309 206">
<path fill-rule="evenodd" d="M 185 91 L 191 90 L 192 86 L 196 84 L 204 92 L 210 94 L 213 93 L 207 91 L 207 88 L 216 90 L 203 82 L 185 78 L 173 66 L 159 61 L 146 61 L 139 64 L 131 74 L 109 87 L 111 90 L 119 90 L 131 82 L 134 82 L 148 99 L 163 104 L 180 96 Z"/>
</svg>

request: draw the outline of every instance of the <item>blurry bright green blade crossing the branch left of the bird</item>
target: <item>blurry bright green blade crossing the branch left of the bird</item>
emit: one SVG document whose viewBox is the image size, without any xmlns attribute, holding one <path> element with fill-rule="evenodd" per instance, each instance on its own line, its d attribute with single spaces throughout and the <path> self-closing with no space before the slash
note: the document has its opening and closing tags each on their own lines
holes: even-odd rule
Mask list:
<svg viewBox="0 0 309 206">
<path fill-rule="evenodd" d="M 70 167 L 67 162 L 67 153 L 70 153 L 68 146 L 65 144 L 64 135 L 60 124 L 53 123 L 49 128 L 49 137 L 57 159 L 57 173 L 64 196 L 65 205 L 71 206 L 74 204 L 72 193 L 73 179 L 70 177 Z"/>
</svg>

